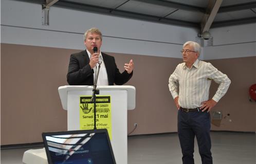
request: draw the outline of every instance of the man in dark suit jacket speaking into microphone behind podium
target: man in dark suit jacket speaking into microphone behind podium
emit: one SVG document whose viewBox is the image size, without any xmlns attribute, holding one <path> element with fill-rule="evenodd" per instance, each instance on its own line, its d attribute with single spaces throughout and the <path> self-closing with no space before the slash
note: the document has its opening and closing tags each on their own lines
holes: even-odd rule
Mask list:
<svg viewBox="0 0 256 164">
<path fill-rule="evenodd" d="M 94 85 L 94 76 L 99 61 L 102 61 L 97 85 L 123 85 L 133 75 L 134 63 L 131 59 L 129 64 L 124 64 L 124 72 L 120 73 L 115 58 L 100 51 L 102 34 L 92 28 L 84 33 L 84 45 L 86 50 L 71 54 L 67 82 L 69 85 Z M 94 47 L 98 51 L 94 53 Z M 107 76 L 105 76 L 107 74 Z"/>
</svg>

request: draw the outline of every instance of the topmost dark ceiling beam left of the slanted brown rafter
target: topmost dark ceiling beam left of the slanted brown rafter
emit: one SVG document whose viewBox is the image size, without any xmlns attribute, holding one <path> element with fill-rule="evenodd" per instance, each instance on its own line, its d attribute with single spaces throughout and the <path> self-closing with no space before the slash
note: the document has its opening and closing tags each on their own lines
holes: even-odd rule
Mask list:
<svg viewBox="0 0 256 164">
<path fill-rule="evenodd" d="M 147 4 L 158 5 L 158 6 L 166 6 L 166 7 L 171 7 L 171 8 L 180 9 L 180 10 L 199 11 L 199 12 L 205 13 L 205 9 L 202 7 L 174 3 L 170 1 L 164 1 L 164 0 L 132 0 L 132 1 L 143 2 Z"/>
</svg>

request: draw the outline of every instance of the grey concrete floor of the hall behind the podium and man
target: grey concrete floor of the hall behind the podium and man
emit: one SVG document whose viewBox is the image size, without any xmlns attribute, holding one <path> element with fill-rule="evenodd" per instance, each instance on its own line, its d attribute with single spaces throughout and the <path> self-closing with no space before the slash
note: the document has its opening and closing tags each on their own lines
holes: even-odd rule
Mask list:
<svg viewBox="0 0 256 164">
<path fill-rule="evenodd" d="M 213 163 L 255 164 L 255 139 L 255 133 L 211 132 Z M 31 148 L 1 150 L 1 163 L 21 164 L 23 153 L 28 149 Z M 196 142 L 194 158 L 195 163 L 202 163 Z M 128 163 L 182 163 L 177 134 L 128 137 Z"/>
</svg>

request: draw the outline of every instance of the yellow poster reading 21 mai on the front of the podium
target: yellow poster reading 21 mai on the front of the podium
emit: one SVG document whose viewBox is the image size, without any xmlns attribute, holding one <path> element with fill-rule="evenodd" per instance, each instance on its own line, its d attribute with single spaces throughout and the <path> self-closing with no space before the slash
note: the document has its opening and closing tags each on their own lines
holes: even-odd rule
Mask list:
<svg viewBox="0 0 256 164">
<path fill-rule="evenodd" d="M 94 103 L 90 102 L 92 96 L 80 95 L 79 113 L 80 129 L 94 129 Z M 111 122 L 111 96 L 96 95 L 96 128 L 107 129 L 109 138 L 112 140 Z"/>
</svg>

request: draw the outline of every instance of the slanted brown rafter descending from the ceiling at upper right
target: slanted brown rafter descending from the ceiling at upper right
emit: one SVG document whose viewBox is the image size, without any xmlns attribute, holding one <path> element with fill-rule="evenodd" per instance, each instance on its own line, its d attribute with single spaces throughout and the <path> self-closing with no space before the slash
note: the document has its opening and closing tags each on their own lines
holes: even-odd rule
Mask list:
<svg viewBox="0 0 256 164">
<path fill-rule="evenodd" d="M 223 0 L 210 0 L 208 7 L 207 7 L 207 11 L 206 14 L 202 20 L 202 24 L 201 24 L 201 34 L 204 33 L 205 31 L 209 31 L 213 20 L 215 18 L 215 16 L 217 15 L 218 9 L 220 9 L 222 1 Z"/>
</svg>

